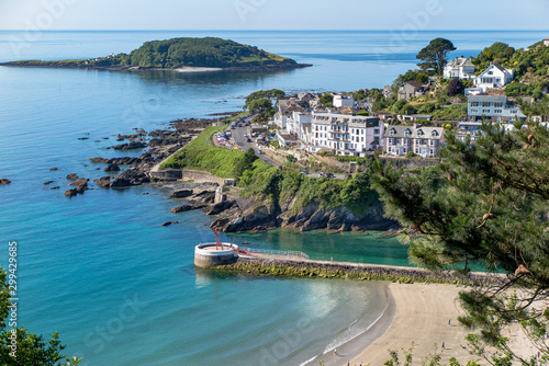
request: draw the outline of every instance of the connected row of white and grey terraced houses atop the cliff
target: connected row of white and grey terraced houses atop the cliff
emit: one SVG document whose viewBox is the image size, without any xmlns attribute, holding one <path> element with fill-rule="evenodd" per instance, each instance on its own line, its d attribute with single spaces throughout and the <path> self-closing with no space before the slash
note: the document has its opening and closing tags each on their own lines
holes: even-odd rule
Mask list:
<svg viewBox="0 0 549 366">
<path fill-rule="evenodd" d="M 274 116 L 279 144 L 339 156 L 365 157 L 377 150 L 389 156 L 438 156 L 444 144 L 442 127 L 423 127 L 417 123 L 392 126 L 380 116 L 357 116 L 350 106 L 356 105 L 352 96 L 339 96 L 335 95 L 334 102 L 340 106 L 328 110 L 320 110 L 320 104 L 307 94 L 281 100 Z"/>
</svg>

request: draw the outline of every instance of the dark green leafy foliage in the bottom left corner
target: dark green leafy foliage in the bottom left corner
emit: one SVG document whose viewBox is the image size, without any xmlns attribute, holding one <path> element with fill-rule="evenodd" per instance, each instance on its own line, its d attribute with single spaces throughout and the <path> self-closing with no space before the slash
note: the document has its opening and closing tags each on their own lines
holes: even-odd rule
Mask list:
<svg viewBox="0 0 549 366">
<path fill-rule="evenodd" d="M 49 341 L 42 335 L 30 333 L 25 329 L 16 329 L 16 357 L 13 358 L 11 345 L 11 328 L 9 328 L 9 306 L 11 305 L 5 282 L 5 271 L 0 268 L 0 365 L 1 366 L 57 366 L 77 365 L 80 359 L 61 355 L 65 348 L 57 333 Z"/>
</svg>

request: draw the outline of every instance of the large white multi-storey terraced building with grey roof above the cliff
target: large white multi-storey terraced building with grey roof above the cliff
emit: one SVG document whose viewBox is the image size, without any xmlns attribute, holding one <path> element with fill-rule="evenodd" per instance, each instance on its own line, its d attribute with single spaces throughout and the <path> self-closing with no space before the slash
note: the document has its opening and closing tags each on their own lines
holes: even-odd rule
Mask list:
<svg viewBox="0 0 549 366">
<path fill-rule="evenodd" d="M 384 126 L 378 117 L 313 113 L 310 149 L 340 156 L 365 157 L 382 147 Z"/>
</svg>

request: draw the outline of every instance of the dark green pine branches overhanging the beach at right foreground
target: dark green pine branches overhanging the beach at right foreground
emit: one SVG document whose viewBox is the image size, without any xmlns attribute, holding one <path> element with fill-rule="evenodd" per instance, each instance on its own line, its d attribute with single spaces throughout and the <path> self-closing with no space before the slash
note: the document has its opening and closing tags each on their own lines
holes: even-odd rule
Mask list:
<svg viewBox="0 0 549 366">
<path fill-rule="evenodd" d="M 512 324 L 549 359 L 549 133 L 536 123 L 515 127 L 483 124 L 474 144 L 448 133 L 441 163 L 417 174 L 372 167 L 372 186 L 406 228 L 402 239 L 417 265 L 504 272 L 492 287 L 460 294 L 460 321 L 475 331 L 471 352 L 497 365 L 536 364 L 509 346 Z"/>
</svg>

